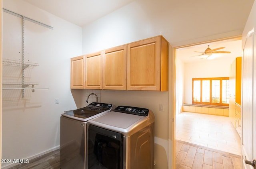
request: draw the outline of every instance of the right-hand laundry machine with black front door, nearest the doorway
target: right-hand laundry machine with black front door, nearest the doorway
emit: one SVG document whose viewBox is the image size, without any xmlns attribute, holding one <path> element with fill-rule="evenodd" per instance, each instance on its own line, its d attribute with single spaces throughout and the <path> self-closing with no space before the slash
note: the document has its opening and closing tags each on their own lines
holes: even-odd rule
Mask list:
<svg viewBox="0 0 256 169">
<path fill-rule="evenodd" d="M 86 169 L 153 169 L 153 112 L 118 106 L 88 120 L 86 149 Z"/>
</svg>

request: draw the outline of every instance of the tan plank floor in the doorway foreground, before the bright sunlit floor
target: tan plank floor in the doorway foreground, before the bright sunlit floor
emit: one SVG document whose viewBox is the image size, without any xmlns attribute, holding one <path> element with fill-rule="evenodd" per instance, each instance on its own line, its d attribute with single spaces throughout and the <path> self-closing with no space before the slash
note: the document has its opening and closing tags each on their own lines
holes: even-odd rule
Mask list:
<svg viewBox="0 0 256 169">
<path fill-rule="evenodd" d="M 176 169 L 241 169 L 241 156 L 176 140 Z"/>
</svg>

